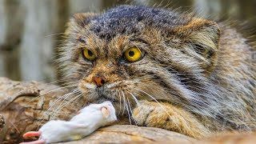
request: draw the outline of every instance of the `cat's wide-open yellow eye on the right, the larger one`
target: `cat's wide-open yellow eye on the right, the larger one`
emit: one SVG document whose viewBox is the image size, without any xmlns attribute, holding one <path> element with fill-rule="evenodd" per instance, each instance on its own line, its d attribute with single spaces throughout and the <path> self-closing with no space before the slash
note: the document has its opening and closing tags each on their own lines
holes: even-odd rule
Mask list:
<svg viewBox="0 0 256 144">
<path fill-rule="evenodd" d="M 125 57 L 129 62 L 136 62 L 142 58 L 142 51 L 137 47 L 131 47 L 130 49 L 126 50 Z"/>
</svg>

